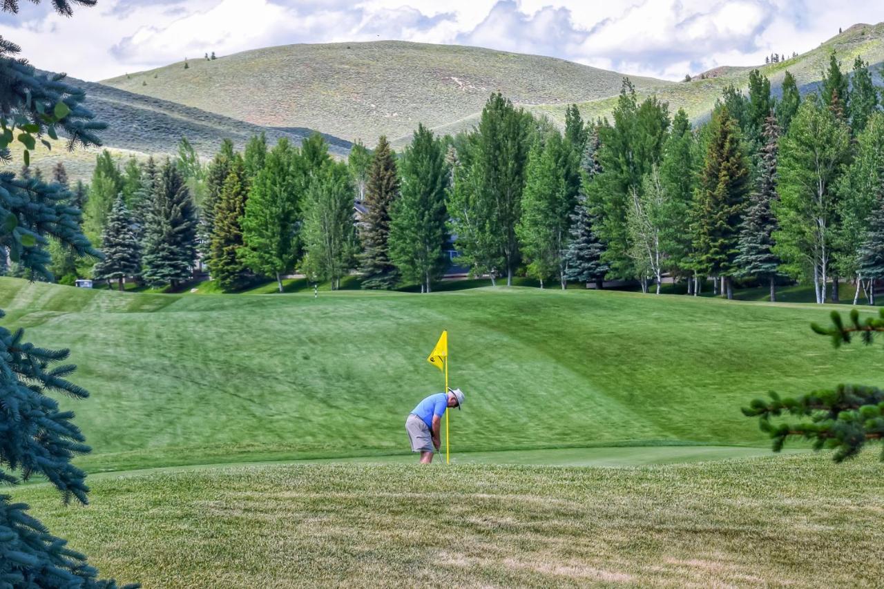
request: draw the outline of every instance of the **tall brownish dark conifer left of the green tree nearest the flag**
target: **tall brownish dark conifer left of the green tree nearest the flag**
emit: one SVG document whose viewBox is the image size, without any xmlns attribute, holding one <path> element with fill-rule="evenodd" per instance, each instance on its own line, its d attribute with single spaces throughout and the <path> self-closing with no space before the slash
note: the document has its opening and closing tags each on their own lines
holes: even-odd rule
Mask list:
<svg viewBox="0 0 884 589">
<path fill-rule="evenodd" d="M 390 261 L 390 207 L 399 197 L 399 176 L 396 157 L 390 143 L 381 135 L 365 191 L 368 212 L 362 218 L 361 239 L 362 288 L 392 288 L 399 281 L 399 272 Z"/>
</svg>

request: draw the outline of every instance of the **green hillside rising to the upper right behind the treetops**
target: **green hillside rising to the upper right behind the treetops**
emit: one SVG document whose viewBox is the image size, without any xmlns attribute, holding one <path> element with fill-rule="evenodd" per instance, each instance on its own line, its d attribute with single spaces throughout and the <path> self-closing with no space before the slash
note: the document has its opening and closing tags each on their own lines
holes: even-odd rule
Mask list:
<svg viewBox="0 0 884 589">
<path fill-rule="evenodd" d="M 835 35 L 827 42 L 820 43 L 816 49 L 778 64 L 759 65 L 758 70 L 770 78 L 775 96 L 781 92 L 782 79 L 786 70 L 795 76 L 798 88 L 803 93 L 812 92 L 819 86 L 819 80 L 828 66 L 829 55 L 833 50 L 842 62 L 842 69 L 845 72 L 852 71 L 853 60 L 857 56 L 863 57 L 872 65 L 875 80 L 880 83 L 880 66 L 884 65 L 884 23 L 855 25 L 842 34 Z M 641 97 L 656 94 L 661 100 L 669 103 L 670 112 L 683 108 L 691 119 L 702 121 L 709 116 L 715 101 L 720 98 L 724 88 L 731 84 L 736 88 L 748 88 L 751 69 L 748 67 L 721 67 L 717 68 L 720 75 L 711 79 L 679 82 L 658 88 L 639 88 L 637 94 Z M 609 115 L 615 104 L 616 97 L 613 97 L 583 101 L 577 103 L 577 106 L 584 119 L 595 119 Z M 530 110 L 543 113 L 560 124 L 564 124 L 565 108 L 560 104 L 535 106 Z"/>
</svg>

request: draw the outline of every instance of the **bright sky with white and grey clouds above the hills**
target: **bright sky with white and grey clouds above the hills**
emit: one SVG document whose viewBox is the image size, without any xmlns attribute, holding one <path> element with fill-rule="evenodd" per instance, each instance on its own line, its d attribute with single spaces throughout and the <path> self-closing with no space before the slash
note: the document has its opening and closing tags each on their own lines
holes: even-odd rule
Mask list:
<svg viewBox="0 0 884 589">
<path fill-rule="evenodd" d="M 20 0 L 0 34 L 42 68 L 103 80 L 300 42 L 399 39 L 562 57 L 670 80 L 799 53 L 884 21 L 867 0 L 98 0 L 71 19 Z M 48 41 L 50 40 L 50 42 Z"/>
</svg>

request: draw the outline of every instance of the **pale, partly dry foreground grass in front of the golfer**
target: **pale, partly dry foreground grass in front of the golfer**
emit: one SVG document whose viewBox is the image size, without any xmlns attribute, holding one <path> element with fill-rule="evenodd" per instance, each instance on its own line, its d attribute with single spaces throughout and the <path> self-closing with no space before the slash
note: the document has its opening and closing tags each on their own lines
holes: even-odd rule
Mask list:
<svg viewBox="0 0 884 589">
<path fill-rule="evenodd" d="M 878 586 L 877 455 L 581 469 L 324 464 L 15 491 L 145 587 Z"/>
</svg>

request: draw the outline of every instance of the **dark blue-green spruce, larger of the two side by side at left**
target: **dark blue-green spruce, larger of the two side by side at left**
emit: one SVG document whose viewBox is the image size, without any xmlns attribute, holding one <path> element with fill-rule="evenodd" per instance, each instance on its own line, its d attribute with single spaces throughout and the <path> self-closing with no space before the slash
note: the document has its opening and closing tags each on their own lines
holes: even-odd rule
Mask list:
<svg viewBox="0 0 884 589">
<path fill-rule="evenodd" d="M 172 289 L 190 279 L 196 256 L 196 214 L 184 176 L 166 160 L 156 182 L 144 230 L 142 278 Z"/>
</svg>

